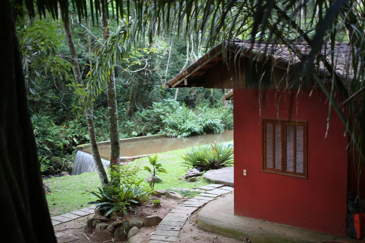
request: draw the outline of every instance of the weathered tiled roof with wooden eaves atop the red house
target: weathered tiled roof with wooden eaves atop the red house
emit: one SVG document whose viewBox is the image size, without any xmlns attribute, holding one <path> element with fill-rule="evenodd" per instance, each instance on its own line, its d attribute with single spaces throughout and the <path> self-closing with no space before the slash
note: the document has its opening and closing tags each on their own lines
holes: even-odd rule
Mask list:
<svg viewBox="0 0 365 243">
<path fill-rule="evenodd" d="M 297 65 L 300 63 L 299 55 L 305 56 L 311 51 L 311 47 L 306 43 L 298 43 L 296 45 L 299 48 L 298 53 L 293 53 L 287 47 L 279 44 L 252 43 L 248 40 L 235 39 L 226 41 L 224 44 L 227 45 L 228 51 L 235 53 L 236 57 L 248 57 L 284 70 L 287 70 L 288 65 Z M 166 88 L 197 86 L 210 88 L 204 76 L 216 63 L 223 60 L 222 45 L 223 43 L 213 47 L 207 54 L 200 57 L 183 72 L 177 74 L 166 84 Z M 334 44 L 334 70 L 344 80 L 351 80 L 354 76 L 351 61 L 349 61 L 351 58 L 350 48 L 348 43 Z M 330 43 L 323 45 L 321 52 L 327 58 L 327 61 L 331 63 Z M 319 72 L 324 75 L 327 74 L 327 70 L 324 68 L 322 62 L 319 66 Z"/>
</svg>

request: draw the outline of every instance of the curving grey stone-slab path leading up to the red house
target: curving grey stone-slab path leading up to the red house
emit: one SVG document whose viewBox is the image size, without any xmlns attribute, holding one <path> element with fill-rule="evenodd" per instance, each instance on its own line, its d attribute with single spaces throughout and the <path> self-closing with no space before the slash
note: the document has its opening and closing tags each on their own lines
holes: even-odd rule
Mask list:
<svg viewBox="0 0 365 243">
<path fill-rule="evenodd" d="M 199 207 L 203 207 L 209 201 L 222 194 L 232 192 L 233 187 L 222 184 L 211 184 L 198 188 L 203 193 L 198 194 L 192 199 L 177 205 L 173 208 L 157 225 L 149 243 L 176 242 L 181 227 L 185 224 L 188 217 Z"/>
</svg>

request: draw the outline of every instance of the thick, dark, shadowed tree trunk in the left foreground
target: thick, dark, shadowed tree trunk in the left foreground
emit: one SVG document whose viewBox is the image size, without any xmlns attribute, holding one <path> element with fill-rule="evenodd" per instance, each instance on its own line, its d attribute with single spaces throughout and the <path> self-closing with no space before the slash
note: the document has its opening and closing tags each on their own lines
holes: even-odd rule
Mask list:
<svg viewBox="0 0 365 243">
<path fill-rule="evenodd" d="M 2 32 L 6 34 L 0 40 L 3 80 L 0 96 L 0 207 L 6 223 L 1 231 L 20 243 L 52 243 L 56 238 L 42 186 L 14 16 L 11 1 L 2 1 L 0 22 Z"/>
</svg>

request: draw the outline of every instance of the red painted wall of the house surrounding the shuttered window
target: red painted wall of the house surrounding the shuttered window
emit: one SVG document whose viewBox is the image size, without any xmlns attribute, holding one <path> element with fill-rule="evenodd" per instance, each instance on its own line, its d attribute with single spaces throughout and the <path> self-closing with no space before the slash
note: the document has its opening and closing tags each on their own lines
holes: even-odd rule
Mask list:
<svg viewBox="0 0 365 243">
<path fill-rule="evenodd" d="M 296 95 L 297 90 L 291 92 Z M 234 213 L 335 235 L 342 229 L 344 235 L 348 138 L 334 111 L 324 138 L 326 97 L 319 91 L 309 94 L 310 90 L 301 90 L 293 99 L 288 91 L 261 90 L 261 117 L 277 118 L 275 100 L 280 99 L 281 119 L 308 121 L 308 179 L 302 179 L 262 172 L 258 90 L 234 90 Z"/>
</svg>

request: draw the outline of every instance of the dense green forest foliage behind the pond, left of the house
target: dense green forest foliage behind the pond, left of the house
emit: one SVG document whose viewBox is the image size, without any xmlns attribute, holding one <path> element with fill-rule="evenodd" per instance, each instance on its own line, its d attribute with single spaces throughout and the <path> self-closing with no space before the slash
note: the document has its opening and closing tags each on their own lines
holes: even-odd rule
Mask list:
<svg viewBox="0 0 365 243">
<path fill-rule="evenodd" d="M 81 26 L 73 21 L 70 28 L 87 86 L 100 47 L 95 38 L 100 38 L 101 31 L 90 23 L 81 22 Z M 75 84 L 62 24 L 48 18 L 18 19 L 17 26 L 38 154 L 42 158 L 72 155 L 78 144 L 89 141 L 89 134 L 79 96 L 84 91 Z M 111 30 L 116 28 L 112 22 Z M 169 57 L 166 50 L 172 39 Z M 224 109 L 221 101 L 223 90 L 180 89 L 175 101 L 175 90 L 164 87 L 180 72 L 186 59 L 186 42 L 177 36 L 172 39 L 161 38 L 154 45 L 136 47 L 120 59 L 120 68 L 115 69 L 120 138 L 162 133 L 183 137 L 233 128 L 232 106 Z M 189 63 L 195 59 L 190 57 Z M 146 60 L 148 67 L 143 69 Z M 110 139 L 103 89 L 94 101 L 93 115 L 97 140 Z"/>
</svg>

